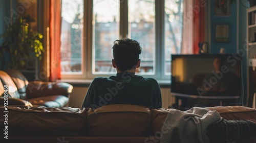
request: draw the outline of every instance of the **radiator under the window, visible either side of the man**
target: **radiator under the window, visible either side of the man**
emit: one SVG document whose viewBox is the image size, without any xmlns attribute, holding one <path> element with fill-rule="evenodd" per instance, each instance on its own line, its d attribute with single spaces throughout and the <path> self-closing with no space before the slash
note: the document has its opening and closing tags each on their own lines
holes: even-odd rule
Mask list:
<svg viewBox="0 0 256 143">
<path fill-rule="evenodd" d="M 69 106 L 74 108 L 80 108 L 86 96 L 88 87 L 75 87 L 70 95 Z M 170 88 L 161 88 L 162 93 L 162 108 L 168 108 L 171 106 L 175 100 L 174 97 L 170 94 Z"/>
</svg>

